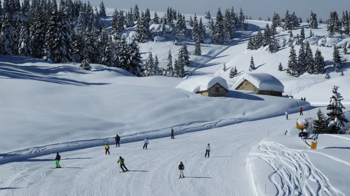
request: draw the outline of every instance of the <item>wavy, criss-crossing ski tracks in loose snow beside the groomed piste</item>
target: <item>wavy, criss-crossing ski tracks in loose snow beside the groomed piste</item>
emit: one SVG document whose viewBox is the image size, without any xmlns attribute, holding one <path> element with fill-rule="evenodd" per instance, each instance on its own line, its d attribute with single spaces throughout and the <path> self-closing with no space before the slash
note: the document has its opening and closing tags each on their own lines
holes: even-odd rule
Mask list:
<svg viewBox="0 0 350 196">
<path fill-rule="evenodd" d="M 276 195 L 345 196 L 302 151 L 267 141 L 262 141 L 258 149 L 252 159 L 261 159 L 272 167 L 268 178 L 277 189 Z"/>
</svg>

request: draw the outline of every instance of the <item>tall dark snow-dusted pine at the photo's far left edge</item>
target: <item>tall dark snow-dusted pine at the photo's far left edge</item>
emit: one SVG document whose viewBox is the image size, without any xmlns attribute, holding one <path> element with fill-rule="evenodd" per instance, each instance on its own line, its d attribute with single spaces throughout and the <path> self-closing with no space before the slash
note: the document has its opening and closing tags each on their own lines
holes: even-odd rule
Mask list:
<svg viewBox="0 0 350 196">
<path fill-rule="evenodd" d="M 8 13 L 6 13 L 0 32 L 0 54 L 12 54 L 12 31 L 13 27 L 10 23 Z"/>
</svg>

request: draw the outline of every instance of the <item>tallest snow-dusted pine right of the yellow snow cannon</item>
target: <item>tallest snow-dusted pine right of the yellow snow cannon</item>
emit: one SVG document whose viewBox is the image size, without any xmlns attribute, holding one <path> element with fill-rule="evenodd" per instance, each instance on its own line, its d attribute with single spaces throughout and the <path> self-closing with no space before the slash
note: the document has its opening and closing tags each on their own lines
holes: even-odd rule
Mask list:
<svg viewBox="0 0 350 196">
<path fill-rule="evenodd" d="M 344 128 L 344 123 L 348 123 L 349 120 L 343 114 L 343 109 L 345 107 L 340 102 L 344 98 L 338 93 L 338 86 L 333 86 L 332 97 L 330 104 L 327 106 L 327 120 L 329 122 L 328 127 L 330 129 L 329 133 L 337 134 L 342 133 L 342 129 Z"/>
</svg>

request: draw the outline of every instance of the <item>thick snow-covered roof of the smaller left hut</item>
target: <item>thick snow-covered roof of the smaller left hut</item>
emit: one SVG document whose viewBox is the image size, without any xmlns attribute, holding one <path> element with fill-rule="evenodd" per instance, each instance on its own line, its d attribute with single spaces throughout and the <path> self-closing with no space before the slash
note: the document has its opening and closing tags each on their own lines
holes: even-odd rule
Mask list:
<svg viewBox="0 0 350 196">
<path fill-rule="evenodd" d="M 179 85 L 177 85 L 175 88 L 196 93 L 198 91 L 209 90 L 216 83 L 219 83 L 228 91 L 226 80 L 217 76 L 200 76 L 190 78 L 179 83 Z"/>
</svg>

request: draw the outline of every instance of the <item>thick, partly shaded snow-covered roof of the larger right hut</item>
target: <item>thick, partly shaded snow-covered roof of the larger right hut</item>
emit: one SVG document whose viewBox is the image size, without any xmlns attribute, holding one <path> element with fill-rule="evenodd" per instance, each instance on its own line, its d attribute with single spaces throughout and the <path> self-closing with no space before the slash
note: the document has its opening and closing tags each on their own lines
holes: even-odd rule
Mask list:
<svg viewBox="0 0 350 196">
<path fill-rule="evenodd" d="M 283 84 L 277 78 L 267 73 L 243 74 L 241 78 L 239 78 L 238 81 L 233 84 L 232 89 L 236 89 L 245 80 L 249 81 L 260 90 L 272 90 L 277 92 L 283 92 L 284 90 Z"/>
</svg>

